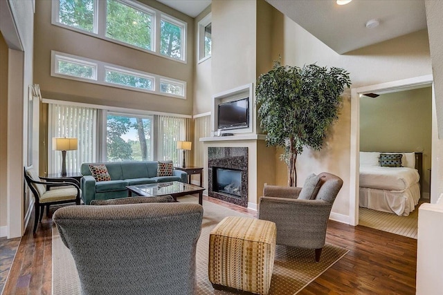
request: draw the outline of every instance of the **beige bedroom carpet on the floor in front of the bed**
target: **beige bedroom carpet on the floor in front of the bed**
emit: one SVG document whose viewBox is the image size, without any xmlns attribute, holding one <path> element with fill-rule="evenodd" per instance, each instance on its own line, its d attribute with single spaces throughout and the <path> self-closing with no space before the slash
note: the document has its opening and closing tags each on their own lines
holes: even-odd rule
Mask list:
<svg viewBox="0 0 443 295">
<path fill-rule="evenodd" d="M 417 239 L 418 207 L 420 204 L 415 206 L 415 210 L 410 212 L 409 216 L 398 216 L 394 213 L 360 207 L 359 225 Z"/>
</svg>

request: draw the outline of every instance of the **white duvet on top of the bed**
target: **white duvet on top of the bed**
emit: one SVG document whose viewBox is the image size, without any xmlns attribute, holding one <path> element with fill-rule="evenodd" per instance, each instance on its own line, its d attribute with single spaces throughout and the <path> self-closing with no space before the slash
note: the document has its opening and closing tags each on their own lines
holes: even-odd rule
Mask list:
<svg viewBox="0 0 443 295">
<path fill-rule="evenodd" d="M 404 191 L 419 182 L 416 169 L 407 167 L 360 166 L 360 187 Z"/>
</svg>

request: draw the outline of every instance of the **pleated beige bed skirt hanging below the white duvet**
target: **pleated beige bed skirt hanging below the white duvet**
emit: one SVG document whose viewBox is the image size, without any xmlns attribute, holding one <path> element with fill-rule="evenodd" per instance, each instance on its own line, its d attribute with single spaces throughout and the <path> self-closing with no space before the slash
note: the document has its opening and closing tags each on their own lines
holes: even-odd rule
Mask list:
<svg viewBox="0 0 443 295">
<path fill-rule="evenodd" d="M 360 207 L 408 216 L 414 211 L 420 198 L 420 187 L 415 183 L 404 191 L 360 188 Z"/>
</svg>

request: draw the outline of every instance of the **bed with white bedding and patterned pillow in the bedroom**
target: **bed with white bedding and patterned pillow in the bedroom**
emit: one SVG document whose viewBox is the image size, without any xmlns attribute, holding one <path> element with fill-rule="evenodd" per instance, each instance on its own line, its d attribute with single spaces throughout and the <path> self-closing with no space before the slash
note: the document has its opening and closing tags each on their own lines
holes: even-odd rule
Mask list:
<svg viewBox="0 0 443 295">
<path fill-rule="evenodd" d="M 408 216 L 420 198 L 421 156 L 360 152 L 359 206 Z"/>
</svg>

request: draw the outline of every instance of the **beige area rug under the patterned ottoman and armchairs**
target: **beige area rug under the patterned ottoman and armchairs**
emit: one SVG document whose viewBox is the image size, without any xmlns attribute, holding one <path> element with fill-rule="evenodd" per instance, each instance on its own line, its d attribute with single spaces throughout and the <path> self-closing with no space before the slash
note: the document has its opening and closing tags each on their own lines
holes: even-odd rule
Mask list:
<svg viewBox="0 0 443 295">
<path fill-rule="evenodd" d="M 180 202 L 197 202 L 197 198 L 186 196 Z M 210 231 L 226 216 L 246 216 L 226 207 L 204 201 L 204 219 L 201 236 L 197 242 L 197 294 L 235 294 L 213 289 L 208 280 L 208 242 Z M 326 269 L 334 265 L 348 250 L 327 244 L 323 248 L 320 263 L 314 262 L 314 250 L 298 249 L 277 245 L 274 269 L 269 294 L 296 294 Z M 80 294 L 80 284 L 75 264 L 58 234 L 53 229 L 53 294 Z"/>
</svg>

